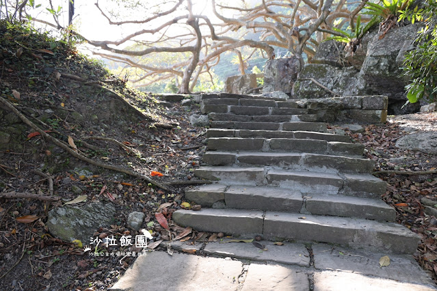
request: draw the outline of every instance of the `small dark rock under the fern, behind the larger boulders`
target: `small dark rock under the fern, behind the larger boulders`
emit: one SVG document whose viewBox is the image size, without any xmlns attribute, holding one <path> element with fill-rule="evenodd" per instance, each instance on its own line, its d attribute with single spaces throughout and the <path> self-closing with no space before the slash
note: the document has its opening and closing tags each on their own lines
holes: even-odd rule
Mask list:
<svg viewBox="0 0 437 291">
<path fill-rule="evenodd" d="M 341 54 L 345 44 L 336 40 L 328 40 L 321 42 L 317 47 L 317 51 L 311 60 L 313 64 L 326 64 L 330 66 L 343 67 L 341 63 Z"/>
</svg>

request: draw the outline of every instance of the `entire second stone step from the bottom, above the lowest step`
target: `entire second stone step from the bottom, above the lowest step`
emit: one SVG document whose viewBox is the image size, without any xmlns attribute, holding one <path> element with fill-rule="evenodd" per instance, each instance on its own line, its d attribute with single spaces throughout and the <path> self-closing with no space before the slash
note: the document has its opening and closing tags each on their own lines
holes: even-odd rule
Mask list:
<svg viewBox="0 0 437 291">
<path fill-rule="evenodd" d="M 185 191 L 185 197 L 204 207 L 258 209 L 302 214 L 395 221 L 396 211 L 380 199 L 343 195 L 302 195 L 268 186 L 211 184 Z"/>
</svg>

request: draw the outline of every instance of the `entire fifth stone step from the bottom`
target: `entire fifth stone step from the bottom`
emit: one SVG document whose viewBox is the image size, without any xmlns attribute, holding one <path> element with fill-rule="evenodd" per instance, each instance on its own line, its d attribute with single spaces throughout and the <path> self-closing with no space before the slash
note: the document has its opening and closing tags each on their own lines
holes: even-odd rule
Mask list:
<svg viewBox="0 0 437 291">
<path fill-rule="evenodd" d="M 319 139 L 263 139 L 241 137 L 210 137 L 208 150 L 252 150 L 261 152 L 308 152 L 343 156 L 362 156 L 360 143 L 342 143 Z"/>
</svg>

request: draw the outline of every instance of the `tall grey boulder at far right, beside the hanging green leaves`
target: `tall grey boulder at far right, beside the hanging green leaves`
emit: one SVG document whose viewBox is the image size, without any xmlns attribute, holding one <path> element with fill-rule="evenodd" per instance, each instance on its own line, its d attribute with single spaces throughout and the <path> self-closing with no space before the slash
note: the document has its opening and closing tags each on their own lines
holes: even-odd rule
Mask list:
<svg viewBox="0 0 437 291">
<path fill-rule="evenodd" d="M 420 109 L 418 103 L 403 107 L 407 100 L 405 86 L 408 79 L 403 77 L 401 70 L 404 55 L 414 49 L 418 29 L 419 25 L 395 27 L 383 38 L 376 34 L 367 45 L 367 57 L 360 73 L 371 91 L 369 94 L 388 96 L 389 114 L 405 114 Z"/>
</svg>

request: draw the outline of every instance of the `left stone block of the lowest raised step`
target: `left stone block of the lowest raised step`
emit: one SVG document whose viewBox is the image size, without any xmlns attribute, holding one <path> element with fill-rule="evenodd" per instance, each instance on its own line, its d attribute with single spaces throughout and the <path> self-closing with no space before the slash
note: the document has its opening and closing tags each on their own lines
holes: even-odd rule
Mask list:
<svg viewBox="0 0 437 291">
<path fill-rule="evenodd" d="M 176 210 L 172 218 L 178 225 L 205 232 L 223 232 L 231 235 L 263 233 L 263 212 L 259 210 L 211 208 L 200 211 Z"/>
</svg>

